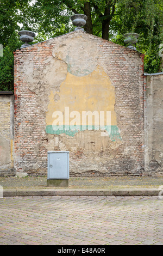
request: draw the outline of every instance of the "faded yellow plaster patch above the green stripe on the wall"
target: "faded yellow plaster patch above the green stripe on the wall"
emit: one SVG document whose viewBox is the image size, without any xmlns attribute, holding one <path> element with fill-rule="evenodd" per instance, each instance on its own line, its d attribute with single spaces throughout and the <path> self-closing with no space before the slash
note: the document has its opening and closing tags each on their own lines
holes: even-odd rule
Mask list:
<svg viewBox="0 0 163 256">
<path fill-rule="evenodd" d="M 55 101 L 55 98 L 58 100 Z M 83 111 L 98 111 L 98 113 L 111 111 L 111 125 L 117 125 L 114 111 L 115 88 L 112 86 L 109 76 L 99 66 L 91 74 L 83 77 L 67 73 L 66 80 L 60 85 L 60 91 L 54 93 L 51 91 L 49 99 L 46 115 L 47 125 L 53 124 L 55 119 L 52 117 L 53 112 L 61 111 L 64 114 L 65 107 L 69 107 L 70 113 L 78 111 L 81 117 Z M 72 119 L 70 118 L 70 121 Z M 65 119 L 63 125 L 67 125 Z"/>
</svg>

